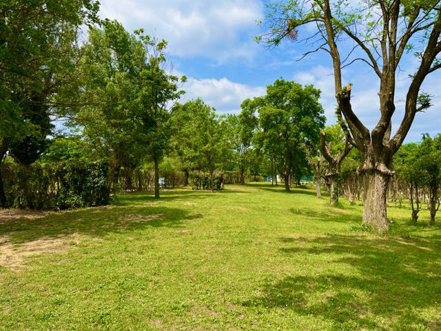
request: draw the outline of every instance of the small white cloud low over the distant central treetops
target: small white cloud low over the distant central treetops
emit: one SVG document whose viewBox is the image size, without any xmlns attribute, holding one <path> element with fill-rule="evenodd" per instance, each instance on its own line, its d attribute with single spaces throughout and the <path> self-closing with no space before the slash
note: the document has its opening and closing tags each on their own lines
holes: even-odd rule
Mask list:
<svg viewBox="0 0 441 331">
<path fill-rule="evenodd" d="M 266 88 L 263 86 L 254 87 L 234 83 L 226 78 L 199 80 L 189 78 L 183 86 L 183 90 L 187 92 L 185 101 L 201 97 L 209 106 L 216 108 L 218 114 L 238 114 L 242 101 L 266 93 Z"/>
</svg>

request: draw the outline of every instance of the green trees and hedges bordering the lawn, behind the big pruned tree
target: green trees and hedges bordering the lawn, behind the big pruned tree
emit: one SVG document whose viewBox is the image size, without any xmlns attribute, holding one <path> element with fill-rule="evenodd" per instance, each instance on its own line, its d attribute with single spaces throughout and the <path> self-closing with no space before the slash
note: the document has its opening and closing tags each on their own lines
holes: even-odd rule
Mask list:
<svg viewBox="0 0 441 331">
<path fill-rule="evenodd" d="M 339 88 L 337 122 L 326 128 L 320 90 L 283 78 L 240 114 L 220 116 L 200 98 L 182 102 L 186 77 L 172 74 L 166 41 L 99 20 L 97 1 L 7 0 L 0 9 L 1 207 L 77 208 L 109 203 L 112 192 L 213 192 L 262 177 L 278 185 L 278 176 L 288 192 L 312 176 L 331 204 L 369 197 L 373 208 L 370 152 L 342 117 L 351 85 Z M 386 160 L 386 199 L 409 201 L 414 221 L 427 205 L 433 223 L 440 136 L 399 145 Z"/>
</svg>

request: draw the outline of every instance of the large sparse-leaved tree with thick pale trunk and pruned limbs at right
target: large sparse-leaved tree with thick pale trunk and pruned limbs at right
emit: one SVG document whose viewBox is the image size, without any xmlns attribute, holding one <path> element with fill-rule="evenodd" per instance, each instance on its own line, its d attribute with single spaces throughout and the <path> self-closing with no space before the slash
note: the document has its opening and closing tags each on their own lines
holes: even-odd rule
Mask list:
<svg viewBox="0 0 441 331">
<path fill-rule="evenodd" d="M 365 176 L 362 223 L 387 230 L 386 193 L 394 173 L 391 159 L 409 132 L 416 113 L 430 106 L 430 97 L 420 92 L 424 79 L 441 68 L 437 59 L 441 51 L 440 1 L 369 0 L 360 1 L 353 8 L 347 0 L 288 0 L 268 6 L 269 27 L 258 41 L 277 46 L 283 39 L 318 37 L 317 43 L 309 43 L 317 46 L 310 52 L 325 50 L 331 55 L 338 112 L 345 119 L 341 121 L 342 128 L 349 143 L 360 151 L 358 172 Z M 309 29 L 304 28 L 307 25 Z M 306 35 L 312 30 L 315 30 L 312 35 Z M 411 75 L 404 117 L 391 136 L 397 72 L 409 50 L 417 55 L 418 66 Z M 357 60 L 366 63 L 380 82 L 380 119 L 373 130 L 353 111 L 351 86 L 342 84 L 342 68 Z"/>
</svg>

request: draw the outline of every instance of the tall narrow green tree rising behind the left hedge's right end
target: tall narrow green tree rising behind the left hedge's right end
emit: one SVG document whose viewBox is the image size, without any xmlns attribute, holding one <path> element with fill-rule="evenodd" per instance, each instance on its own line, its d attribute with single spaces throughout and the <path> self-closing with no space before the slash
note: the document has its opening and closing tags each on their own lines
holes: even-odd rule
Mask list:
<svg viewBox="0 0 441 331">
<path fill-rule="evenodd" d="M 100 156 L 110 160 L 114 188 L 121 167 L 141 159 L 130 121 L 130 109 L 139 96 L 136 59 L 140 56 L 145 56 L 143 48 L 117 21 L 90 28 L 83 46 L 80 72 L 85 106 L 75 109 L 74 125 L 80 125 Z"/>
</svg>

